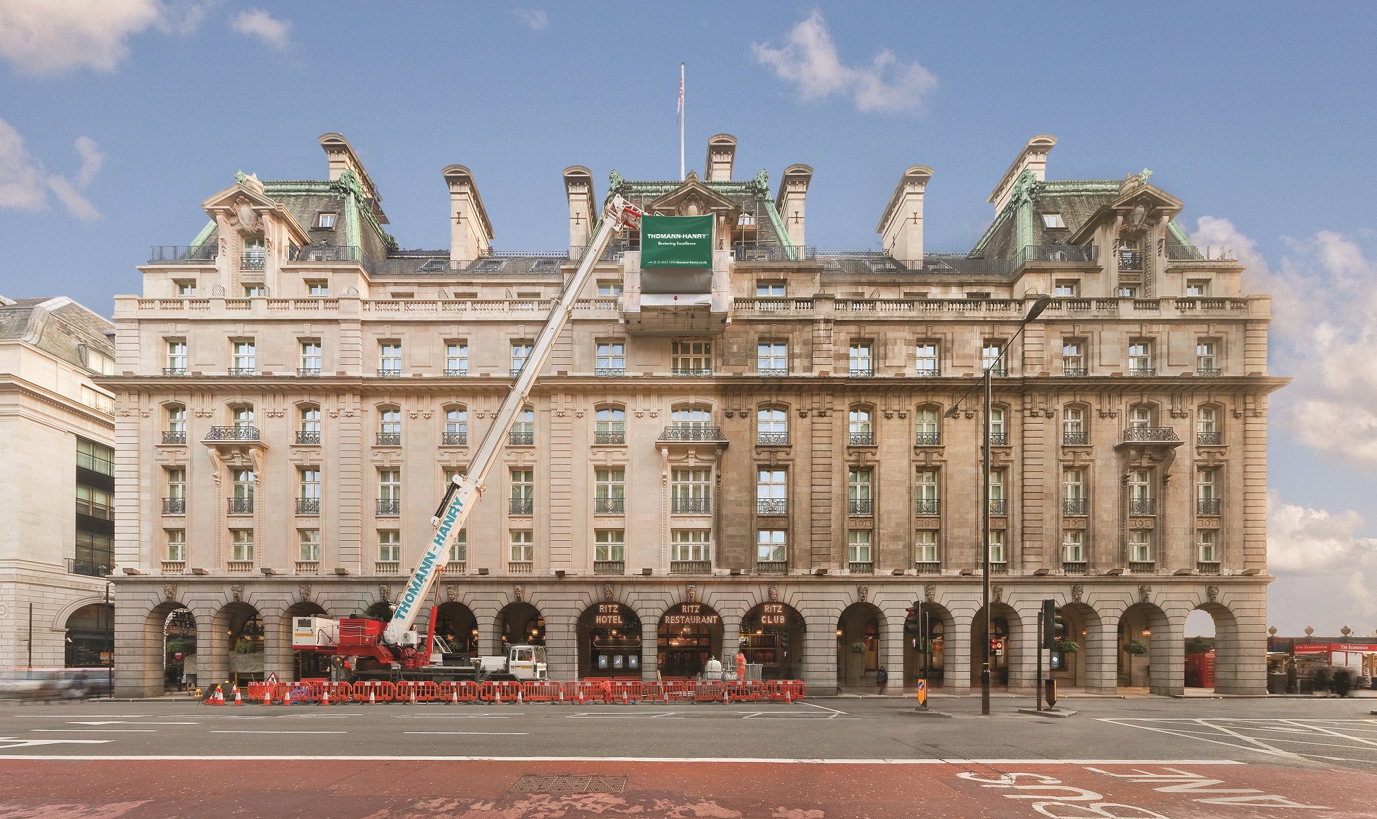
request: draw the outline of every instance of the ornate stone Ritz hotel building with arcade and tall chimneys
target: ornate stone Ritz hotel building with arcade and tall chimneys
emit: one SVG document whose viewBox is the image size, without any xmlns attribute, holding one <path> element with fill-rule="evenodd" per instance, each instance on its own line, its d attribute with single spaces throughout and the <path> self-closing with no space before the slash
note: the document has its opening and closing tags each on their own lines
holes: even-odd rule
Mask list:
<svg viewBox="0 0 1377 819">
<path fill-rule="evenodd" d="M 993 366 L 996 683 L 1031 684 L 1053 599 L 1063 685 L 1180 691 L 1202 608 L 1217 690 L 1263 692 L 1270 299 L 1148 172 L 1048 180 L 1055 142 L 1018 153 L 965 253 L 924 248 L 923 165 L 862 204 L 876 249 L 808 245 L 812 168 L 734 179 L 730 135 L 683 182 L 567 168 L 545 253 L 493 248 L 463 165 L 446 251 L 397 249 L 337 134 L 325 179 L 238 175 L 116 301 L 118 691 L 161 690 L 174 613 L 202 683 L 318 673 L 292 615 L 386 615 L 616 193 L 713 215 L 715 267 L 675 299 L 635 234 L 599 259 L 437 584 L 453 646 L 543 643 L 556 679 L 741 651 L 814 694 L 879 668 L 978 685 Z"/>
</svg>

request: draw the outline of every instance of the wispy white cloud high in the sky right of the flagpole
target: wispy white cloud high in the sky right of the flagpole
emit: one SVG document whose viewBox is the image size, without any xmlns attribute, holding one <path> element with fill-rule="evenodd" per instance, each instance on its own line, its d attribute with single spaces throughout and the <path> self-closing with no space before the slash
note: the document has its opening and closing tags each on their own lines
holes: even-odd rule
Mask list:
<svg viewBox="0 0 1377 819">
<path fill-rule="evenodd" d="M 793 83 L 803 99 L 840 94 L 861 111 L 912 111 L 938 87 L 936 77 L 917 62 L 905 62 L 881 50 L 868 66 L 841 62 L 821 11 L 789 30 L 782 47 L 756 43 L 756 61 Z"/>
</svg>

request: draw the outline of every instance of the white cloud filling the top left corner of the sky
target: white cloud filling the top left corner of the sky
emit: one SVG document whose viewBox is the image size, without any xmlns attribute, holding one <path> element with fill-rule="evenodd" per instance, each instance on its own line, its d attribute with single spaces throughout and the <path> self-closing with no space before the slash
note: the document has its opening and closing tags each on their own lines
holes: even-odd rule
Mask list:
<svg viewBox="0 0 1377 819">
<path fill-rule="evenodd" d="M 186 34 L 218 0 L 0 0 L 0 58 L 26 74 L 113 72 L 149 29 Z"/>
</svg>

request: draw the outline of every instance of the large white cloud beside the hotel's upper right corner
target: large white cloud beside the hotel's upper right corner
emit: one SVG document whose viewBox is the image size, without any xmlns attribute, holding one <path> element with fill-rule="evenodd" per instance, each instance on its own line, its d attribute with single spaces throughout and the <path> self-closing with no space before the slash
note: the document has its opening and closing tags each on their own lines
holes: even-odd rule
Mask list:
<svg viewBox="0 0 1377 819">
<path fill-rule="evenodd" d="M 1292 241 L 1272 267 L 1227 219 L 1202 216 L 1197 245 L 1235 248 L 1249 290 L 1272 295 L 1271 370 L 1276 429 L 1318 451 L 1377 467 L 1377 260 L 1352 240 L 1319 231 Z"/>
</svg>

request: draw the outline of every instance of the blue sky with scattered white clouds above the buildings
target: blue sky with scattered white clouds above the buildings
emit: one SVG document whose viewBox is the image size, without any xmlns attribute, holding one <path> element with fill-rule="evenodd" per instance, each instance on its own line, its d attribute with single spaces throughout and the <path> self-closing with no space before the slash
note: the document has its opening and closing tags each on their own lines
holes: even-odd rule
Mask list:
<svg viewBox="0 0 1377 819">
<path fill-rule="evenodd" d="M 326 131 L 362 156 L 403 246 L 448 245 L 439 169 L 460 162 L 498 248 L 558 249 L 562 168 L 588 165 L 599 193 L 613 168 L 677 173 L 679 61 L 688 167 L 723 131 L 738 178 L 812 165 L 815 245 L 872 246 L 899 173 L 927 164 L 925 244 L 969 249 L 1034 134 L 1059 139 L 1052 179 L 1151 168 L 1187 231 L 1241 248 L 1278 293 L 1272 369 L 1297 383 L 1272 405 L 1271 621 L 1377 628 L 1371 6 L 56 7 L 0 0 L 0 292 L 102 311 L 139 290 L 147 245 L 190 241 L 234 171 L 322 176 Z"/>
</svg>

